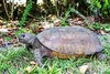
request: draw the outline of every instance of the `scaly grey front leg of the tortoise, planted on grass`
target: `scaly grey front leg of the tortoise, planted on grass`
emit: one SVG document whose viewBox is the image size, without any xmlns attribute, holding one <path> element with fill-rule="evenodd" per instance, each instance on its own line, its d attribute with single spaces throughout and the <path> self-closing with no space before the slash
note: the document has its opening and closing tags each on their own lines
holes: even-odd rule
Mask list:
<svg viewBox="0 0 110 74">
<path fill-rule="evenodd" d="M 34 54 L 34 59 L 35 59 L 35 62 L 37 63 L 37 65 L 42 66 L 43 63 L 42 63 L 42 55 L 41 55 L 40 49 L 33 50 L 33 54 Z"/>
</svg>

